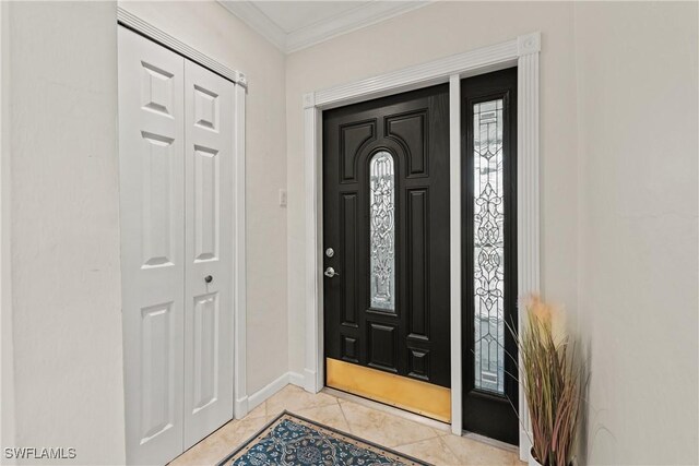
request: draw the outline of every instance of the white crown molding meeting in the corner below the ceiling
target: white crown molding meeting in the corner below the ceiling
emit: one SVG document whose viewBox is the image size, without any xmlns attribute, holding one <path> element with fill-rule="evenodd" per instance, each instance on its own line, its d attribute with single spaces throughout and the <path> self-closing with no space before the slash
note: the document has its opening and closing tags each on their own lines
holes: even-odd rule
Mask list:
<svg viewBox="0 0 699 466">
<path fill-rule="evenodd" d="M 433 3 L 435 0 L 415 0 L 410 2 L 371 1 L 291 33 L 284 32 L 284 29 L 270 20 L 252 2 L 235 0 L 217 1 L 280 50 L 285 53 L 292 53 L 342 34 L 347 34 L 407 13 L 408 11 L 417 10 L 418 8 Z"/>
</svg>

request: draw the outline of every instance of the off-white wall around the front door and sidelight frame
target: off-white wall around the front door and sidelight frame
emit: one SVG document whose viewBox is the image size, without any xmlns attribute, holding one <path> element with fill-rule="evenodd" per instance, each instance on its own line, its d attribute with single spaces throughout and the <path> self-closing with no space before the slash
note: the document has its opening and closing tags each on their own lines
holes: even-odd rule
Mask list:
<svg viewBox="0 0 699 466">
<path fill-rule="evenodd" d="M 304 369 L 303 94 L 542 31 L 542 286 L 576 312 L 577 140 L 572 4 L 438 2 L 287 58 L 289 366 Z"/>
</svg>

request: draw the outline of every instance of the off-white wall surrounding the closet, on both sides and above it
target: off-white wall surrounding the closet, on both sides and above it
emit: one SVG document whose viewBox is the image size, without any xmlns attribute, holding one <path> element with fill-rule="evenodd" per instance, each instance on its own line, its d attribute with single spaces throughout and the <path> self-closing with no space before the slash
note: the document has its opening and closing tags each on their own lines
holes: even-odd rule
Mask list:
<svg viewBox="0 0 699 466">
<path fill-rule="evenodd" d="M 122 464 L 116 3 L 2 7 L 11 25 L 2 35 L 11 98 L 7 106 L 3 94 L 2 104 L 12 130 L 13 304 L 11 315 L 3 308 L 2 357 L 9 316 L 15 395 L 9 406 L 15 432 L 2 446 L 72 446 L 75 463 Z M 277 205 L 286 186 L 285 58 L 214 2 L 128 9 L 250 81 L 247 382 L 253 393 L 287 371 L 286 211 Z M 3 113 L 3 146 L 5 122 Z M 10 152 L 3 147 L 3 158 Z M 2 188 L 4 203 L 8 184 Z M 3 375 L 8 369 L 3 363 Z M 11 410 L 3 406 L 3 428 L 12 427 Z"/>
</svg>

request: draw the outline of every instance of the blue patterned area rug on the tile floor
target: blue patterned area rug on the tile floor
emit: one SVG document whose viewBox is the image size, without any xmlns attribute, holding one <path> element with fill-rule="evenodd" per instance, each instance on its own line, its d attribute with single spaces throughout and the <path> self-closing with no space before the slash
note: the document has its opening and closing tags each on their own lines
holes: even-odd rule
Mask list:
<svg viewBox="0 0 699 466">
<path fill-rule="evenodd" d="M 218 463 L 218 466 L 234 465 L 429 466 L 429 463 L 284 411 Z"/>
</svg>

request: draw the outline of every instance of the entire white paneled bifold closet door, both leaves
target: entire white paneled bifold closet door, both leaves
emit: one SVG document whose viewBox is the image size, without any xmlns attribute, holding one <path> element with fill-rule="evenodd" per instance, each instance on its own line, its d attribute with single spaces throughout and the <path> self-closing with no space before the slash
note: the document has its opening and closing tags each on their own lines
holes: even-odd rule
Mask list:
<svg viewBox="0 0 699 466">
<path fill-rule="evenodd" d="M 118 29 L 127 461 L 165 464 L 233 417 L 235 84 Z"/>
</svg>

